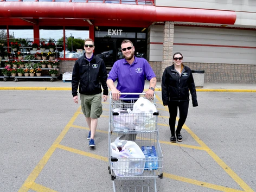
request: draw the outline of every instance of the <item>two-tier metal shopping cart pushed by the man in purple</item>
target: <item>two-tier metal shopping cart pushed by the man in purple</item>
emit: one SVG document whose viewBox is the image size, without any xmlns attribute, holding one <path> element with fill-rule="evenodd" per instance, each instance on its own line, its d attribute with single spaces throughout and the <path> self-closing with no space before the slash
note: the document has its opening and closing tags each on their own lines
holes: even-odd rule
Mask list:
<svg viewBox="0 0 256 192">
<path fill-rule="evenodd" d="M 133 95 L 143 97 L 145 93 L 120 93 L 129 98 L 113 100 L 110 93 L 110 121 L 108 129 L 109 173 L 116 191 L 116 183 L 121 191 L 152 191 L 153 185 L 157 191 L 157 178 L 163 178 L 163 155 L 158 139 L 158 111 L 150 113 L 134 113 L 133 105 L 136 100 Z M 130 96 L 129 96 L 130 95 Z M 151 101 L 156 105 L 156 95 Z M 117 140 L 135 142 L 143 153 L 154 151 L 155 156 L 147 153 L 143 158 L 114 157 L 113 146 Z M 141 151 L 140 151 L 141 152 Z"/>
</svg>

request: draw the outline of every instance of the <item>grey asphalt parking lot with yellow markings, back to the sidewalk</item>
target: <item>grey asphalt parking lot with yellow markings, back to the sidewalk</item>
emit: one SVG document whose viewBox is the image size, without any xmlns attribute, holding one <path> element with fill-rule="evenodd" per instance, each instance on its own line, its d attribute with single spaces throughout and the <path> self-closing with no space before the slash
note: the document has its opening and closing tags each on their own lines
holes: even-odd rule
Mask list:
<svg viewBox="0 0 256 192">
<path fill-rule="evenodd" d="M 21 82 L 3 86 L 10 82 L 0 81 L 0 191 L 113 191 L 107 169 L 109 99 L 99 119 L 97 146 L 91 150 L 89 129 L 80 105 L 73 103 L 69 82 Z M 214 86 L 210 91 L 213 86 L 204 84 L 204 91 L 197 92 L 199 106 L 190 105 L 183 142 L 176 144 L 170 143 L 169 113 L 161 91 L 156 91 L 163 153 L 163 179 L 157 179 L 157 191 L 256 190 L 255 86 Z M 124 186 L 114 184 L 117 191 Z M 145 185 L 143 191 L 154 191 L 146 178 L 140 185 Z M 136 191 L 142 191 L 139 187 Z"/>
</svg>

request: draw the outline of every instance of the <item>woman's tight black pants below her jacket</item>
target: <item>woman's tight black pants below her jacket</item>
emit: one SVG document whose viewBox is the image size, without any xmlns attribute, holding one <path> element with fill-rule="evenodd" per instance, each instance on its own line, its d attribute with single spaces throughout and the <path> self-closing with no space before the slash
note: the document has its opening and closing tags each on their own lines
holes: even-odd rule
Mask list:
<svg viewBox="0 0 256 192">
<path fill-rule="evenodd" d="M 184 125 L 185 120 L 187 119 L 188 105 L 189 105 L 189 101 L 170 101 L 170 103 L 168 104 L 169 114 L 170 114 L 169 126 L 170 126 L 172 136 L 175 136 L 175 123 L 176 123 L 178 110 L 180 112 L 180 119 L 178 120 L 176 133 L 181 132 L 182 126 Z"/>
</svg>

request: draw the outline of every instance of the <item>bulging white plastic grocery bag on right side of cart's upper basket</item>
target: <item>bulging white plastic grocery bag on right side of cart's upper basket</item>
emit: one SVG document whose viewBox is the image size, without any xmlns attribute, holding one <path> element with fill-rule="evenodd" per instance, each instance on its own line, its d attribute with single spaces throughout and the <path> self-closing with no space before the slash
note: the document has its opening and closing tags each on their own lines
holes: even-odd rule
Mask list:
<svg viewBox="0 0 256 192">
<path fill-rule="evenodd" d="M 155 112 L 157 112 L 155 104 L 146 98 L 140 97 L 133 105 L 135 130 L 155 130 L 157 118 L 153 116 Z"/>
</svg>

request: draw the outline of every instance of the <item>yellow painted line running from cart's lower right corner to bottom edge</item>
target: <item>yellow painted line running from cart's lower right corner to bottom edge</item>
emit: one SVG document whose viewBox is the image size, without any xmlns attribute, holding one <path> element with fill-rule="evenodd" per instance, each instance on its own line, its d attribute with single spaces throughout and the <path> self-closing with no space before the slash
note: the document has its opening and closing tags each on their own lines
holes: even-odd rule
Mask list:
<svg viewBox="0 0 256 192">
<path fill-rule="evenodd" d="M 191 183 L 191 184 L 195 184 L 195 185 L 199 185 L 201 187 L 206 187 L 206 188 L 210 188 L 210 189 L 216 189 L 216 190 L 220 190 L 220 191 L 234 191 L 234 192 L 241 192 L 242 190 L 238 190 L 238 189 L 233 189 L 233 188 L 228 188 L 228 187 L 223 187 L 220 185 L 215 185 L 215 184 L 211 184 L 211 183 L 206 183 L 206 182 L 202 182 L 202 181 L 197 181 L 197 180 L 192 180 L 191 178 L 187 178 L 187 177 L 181 177 L 181 176 L 177 176 L 177 175 L 171 175 L 171 174 L 167 174 L 167 173 L 163 173 L 164 177 L 167 178 L 171 178 L 172 180 L 177 180 L 177 181 L 182 181 L 185 183 Z"/>
</svg>

